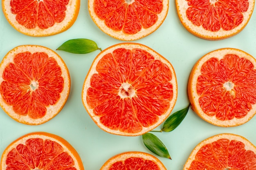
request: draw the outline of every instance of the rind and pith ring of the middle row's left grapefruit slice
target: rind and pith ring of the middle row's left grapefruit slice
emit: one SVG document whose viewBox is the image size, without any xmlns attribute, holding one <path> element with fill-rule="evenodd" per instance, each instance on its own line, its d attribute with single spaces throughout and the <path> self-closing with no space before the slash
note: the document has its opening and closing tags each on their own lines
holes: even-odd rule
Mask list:
<svg viewBox="0 0 256 170">
<path fill-rule="evenodd" d="M 38 118 L 38 119 L 33 119 L 29 117 L 29 115 L 18 115 L 13 111 L 12 106 L 6 104 L 4 101 L 2 95 L 0 95 L 0 106 L 4 110 L 7 115 L 9 115 L 12 119 L 22 123 L 22 124 L 29 124 L 29 125 L 38 125 L 38 124 L 43 124 L 53 117 L 55 117 L 63 108 L 65 105 L 67 98 L 70 93 L 70 74 L 67 69 L 67 66 L 63 59 L 54 51 L 51 49 L 44 47 L 44 46 L 39 46 L 39 45 L 21 45 L 17 46 L 11 51 L 9 51 L 4 58 L 2 59 L 2 62 L 0 63 L 0 75 L 3 74 L 4 68 L 10 63 L 13 62 L 13 57 L 18 54 L 18 53 L 23 53 L 29 51 L 30 53 L 36 53 L 36 52 L 45 52 L 47 53 L 48 57 L 53 57 L 56 62 L 58 63 L 58 66 L 61 67 L 62 71 L 62 77 L 64 79 L 64 88 L 61 93 L 61 97 L 59 98 L 58 102 L 54 105 L 49 105 L 45 106 L 47 108 L 47 112 L 44 117 Z M 0 77 L 0 84 L 4 81 L 3 77 Z"/>
</svg>

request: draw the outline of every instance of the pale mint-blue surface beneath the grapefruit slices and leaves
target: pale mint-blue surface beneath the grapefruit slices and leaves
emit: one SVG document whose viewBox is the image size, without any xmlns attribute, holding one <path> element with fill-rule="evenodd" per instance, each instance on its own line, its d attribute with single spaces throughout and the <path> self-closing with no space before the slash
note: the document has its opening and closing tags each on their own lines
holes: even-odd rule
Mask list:
<svg viewBox="0 0 256 170">
<path fill-rule="evenodd" d="M 164 23 L 151 35 L 136 40 L 154 49 L 175 68 L 178 83 L 178 98 L 173 113 L 189 104 L 186 86 L 193 64 L 202 55 L 224 47 L 241 49 L 256 57 L 256 13 L 245 29 L 238 35 L 219 41 L 209 41 L 191 35 L 180 23 L 174 0 L 170 0 L 168 15 Z M 88 13 L 87 0 L 81 0 L 79 16 L 67 31 L 49 37 L 35 38 L 23 35 L 13 29 L 0 12 L 0 59 L 14 47 L 23 44 L 37 44 L 55 50 L 63 42 L 74 38 L 88 38 L 97 42 L 101 49 L 123 42 L 115 40 L 98 29 Z M 20 124 L 0 109 L 0 154 L 16 138 L 35 131 L 54 133 L 66 139 L 79 152 L 85 170 L 99 170 L 103 163 L 121 152 L 150 152 L 142 137 L 123 137 L 104 132 L 90 118 L 81 101 L 83 81 L 94 57 L 99 53 L 76 55 L 56 51 L 70 71 L 71 91 L 63 110 L 52 120 L 38 126 Z M 156 130 L 162 127 L 159 126 Z M 193 148 L 203 139 L 219 133 L 235 133 L 249 139 L 256 145 L 256 117 L 244 125 L 232 128 L 213 126 L 200 119 L 190 109 L 184 121 L 172 132 L 154 132 L 166 145 L 172 160 L 158 157 L 168 170 L 182 170 Z M 153 154 L 153 153 L 152 153 Z M 154 154 L 153 154 L 154 155 Z M 155 155 L 156 156 L 156 155 Z"/>
</svg>

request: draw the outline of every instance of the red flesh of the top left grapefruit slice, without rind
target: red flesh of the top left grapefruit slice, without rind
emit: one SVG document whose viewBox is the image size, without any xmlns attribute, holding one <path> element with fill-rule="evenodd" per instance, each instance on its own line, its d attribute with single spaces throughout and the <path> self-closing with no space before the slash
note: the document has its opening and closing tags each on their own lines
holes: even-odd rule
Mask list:
<svg viewBox="0 0 256 170">
<path fill-rule="evenodd" d="M 47 29 L 65 18 L 69 0 L 11 0 L 11 13 L 27 29 Z"/>
</svg>

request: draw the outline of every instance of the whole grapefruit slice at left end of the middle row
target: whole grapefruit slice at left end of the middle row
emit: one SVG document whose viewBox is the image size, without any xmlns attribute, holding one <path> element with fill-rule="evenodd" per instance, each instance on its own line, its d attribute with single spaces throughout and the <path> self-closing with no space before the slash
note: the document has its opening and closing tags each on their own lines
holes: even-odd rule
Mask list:
<svg viewBox="0 0 256 170">
<path fill-rule="evenodd" d="M 0 63 L 0 105 L 20 123 L 49 121 L 63 108 L 69 93 L 67 66 L 51 49 L 17 46 Z"/>
</svg>

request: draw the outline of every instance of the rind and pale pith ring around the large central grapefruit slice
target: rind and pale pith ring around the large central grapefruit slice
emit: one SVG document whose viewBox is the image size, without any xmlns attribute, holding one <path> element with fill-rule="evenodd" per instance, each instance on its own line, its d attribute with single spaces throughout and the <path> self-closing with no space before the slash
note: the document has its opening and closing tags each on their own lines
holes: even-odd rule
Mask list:
<svg viewBox="0 0 256 170">
<path fill-rule="evenodd" d="M 160 115 L 158 117 L 159 120 L 157 121 L 156 124 L 153 124 L 152 126 L 148 126 L 148 127 L 143 127 L 143 129 L 137 133 L 121 132 L 119 130 L 112 130 L 112 129 L 104 126 L 100 122 L 100 117 L 98 117 L 97 115 L 94 115 L 93 109 L 91 109 L 90 106 L 88 106 L 88 103 L 86 101 L 87 89 L 90 87 L 90 77 L 92 77 L 92 75 L 94 73 L 97 73 L 97 71 L 96 71 L 97 63 L 99 62 L 99 60 L 101 60 L 101 57 L 103 57 L 104 55 L 106 55 L 108 53 L 112 53 L 115 49 L 118 49 L 118 48 L 143 49 L 143 50 L 147 51 L 148 53 L 150 53 L 151 55 L 153 55 L 155 57 L 155 60 L 160 60 L 161 62 L 166 64 L 168 66 L 168 68 L 170 68 L 171 73 L 172 73 L 171 84 L 173 85 L 173 99 L 170 102 L 170 107 L 168 108 L 168 110 L 166 111 L 165 114 Z M 115 45 L 110 46 L 107 49 L 101 51 L 101 53 L 99 53 L 99 55 L 97 55 L 97 57 L 94 59 L 92 66 L 90 67 L 90 70 L 88 71 L 88 74 L 85 77 L 85 81 L 83 83 L 83 89 L 82 89 L 83 105 L 84 105 L 85 109 L 87 110 L 88 114 L 90 115 L 90 117 L 92 118 L 92 120 L 95 122 L 95 124 L 97 124 L 97 126 L 99 126 L 99 128 L 101 128 L 102 130 L 104 130 L 106 132 L 109 132 L 109 133 L 115 134 L 115 135 L 123 135 L 123 136 L 142 135 L 150 130 L 153 130 L 157 126 L 159 126 L 171 114 L 171 111 L 173 110 L 173 108 L 175 106 L 176 100 L 177 100 L 177 79 L 176 79 L 176 75 L 175 75 L 175 70 L 174 70 L 173 66 L 171 65 L 171 63 L 168 60 L 166 60 L 162 55 L 160 55 L 153 49 L 150 49 L 148 46 L 145 46 L 143 44 L 138 44 L 138 43 L 132 43 L 132 42 L 115 44 Z"/>
</svg>

